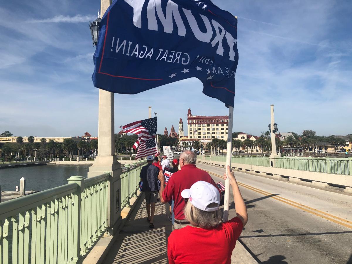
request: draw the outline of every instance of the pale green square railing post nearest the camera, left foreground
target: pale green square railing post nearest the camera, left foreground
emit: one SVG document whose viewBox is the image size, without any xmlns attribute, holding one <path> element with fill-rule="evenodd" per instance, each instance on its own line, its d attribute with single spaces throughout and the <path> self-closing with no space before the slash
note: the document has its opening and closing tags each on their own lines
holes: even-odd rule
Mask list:
<svg viewBox="0 0 352 264">
<path fill-rule="evenodd" d="M 84 190 L 84 178 L 82 176 L 71 176 L 68 183 L 77 183 L 77 191 L 73 194 L 73 225 L 71 232 L 73 233 L 73 264 L 78 262 L 80 258 L 81 243 L 81 193 Z"/>
</svg>

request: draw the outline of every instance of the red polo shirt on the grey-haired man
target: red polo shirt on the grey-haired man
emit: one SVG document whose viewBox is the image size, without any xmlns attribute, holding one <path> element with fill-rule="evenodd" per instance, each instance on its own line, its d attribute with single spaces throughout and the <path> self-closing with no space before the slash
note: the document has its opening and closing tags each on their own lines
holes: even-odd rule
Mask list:
<svg viewBox="0 0 352 264">
<path fill-rule="evenodd" d="M 186 205 L 184 198 L 181 196 L 181 192 L 184 189 L 189 189 L 197 181 L 205 181 L 213 184 L 215 182 L 210 177 L 208 172 L 198 169 L 194 164 L 187 164 L 182 166 L 182 169 L 172 174 L 168 184 L 165 186 L 163 191 L 163 199 L 165 202 L 171 201 L 174 196 L 174 214 L 175 219 L 184 220 L 183 208 Z"/>
</svg>

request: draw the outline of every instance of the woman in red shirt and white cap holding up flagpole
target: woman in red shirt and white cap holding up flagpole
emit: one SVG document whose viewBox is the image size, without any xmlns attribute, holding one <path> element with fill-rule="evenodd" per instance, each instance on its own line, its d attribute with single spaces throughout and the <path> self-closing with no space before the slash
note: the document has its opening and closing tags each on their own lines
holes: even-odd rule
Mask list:
<svg viewBox="0 0 352 264">
<path fill-rule="evenodd" d="M 220 194 L 212 184 L 194 183 L 181 195 L 188 199 L 184 215 L 192 226 L 174 230 L 168 238 L 169 263 L 230 263 L 236 240 L 248 221 L 246 205 L 230 166 L 228 179 L 232 186 L 237 216 L 220 223 Z M 226 180 L 226 173 L 224 174 Z"/>
</svg>

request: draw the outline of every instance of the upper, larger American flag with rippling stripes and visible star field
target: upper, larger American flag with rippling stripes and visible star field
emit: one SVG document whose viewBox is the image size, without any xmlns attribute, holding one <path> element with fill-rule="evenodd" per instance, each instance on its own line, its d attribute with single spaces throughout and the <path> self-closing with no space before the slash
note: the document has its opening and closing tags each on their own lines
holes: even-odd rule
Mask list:
<svg viewBox="0 0 352 264">
<path fill-rule="evenodd" d="M 122 127 L 122 131 L 138 135 L 138 140 L 134 143 L 136 149 L 140 143 L 156 136 L 157 119 L 156 117 L 133 122 Z"/>
</svg>

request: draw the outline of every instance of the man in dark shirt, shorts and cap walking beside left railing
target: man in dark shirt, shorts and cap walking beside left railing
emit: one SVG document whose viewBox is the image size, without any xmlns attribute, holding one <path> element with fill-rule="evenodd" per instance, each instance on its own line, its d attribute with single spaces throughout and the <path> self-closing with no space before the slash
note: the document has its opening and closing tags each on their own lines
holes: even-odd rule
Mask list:
<svg viewBox="0 0 352 264">
<path fill-rule="evenodd" d="M 140 171 L 140 181 L 143 182 L 142 184 L 142 191 L 145 194 L 145 202 L 146 202 L 146 209 L 147 209 L 147 221 L 149 222 L 149 227 L 154 228 L 153 220 L 155 214 L 155 203 L 158 199 L 158 191 L 159 191 L 159 184 L 158 184 L 158 173 L 159 169 L 152 165 L 153 156 L 147 157 L 147 165 L 142 167 Z"/>
</svg>

